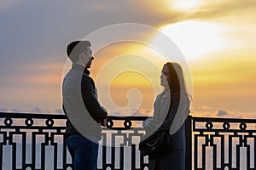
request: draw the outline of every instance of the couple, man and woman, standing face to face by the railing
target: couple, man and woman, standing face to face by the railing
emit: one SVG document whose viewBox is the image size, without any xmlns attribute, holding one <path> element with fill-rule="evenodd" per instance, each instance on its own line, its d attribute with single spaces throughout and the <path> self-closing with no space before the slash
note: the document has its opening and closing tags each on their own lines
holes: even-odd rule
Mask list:
<svg viewBox="0 0 256 170">
<path fill-rule="evenodd" d="M 89 41 L 67 45 L 67 57 L 73 62 L 62 82 L 62 106 L 67 115 L 66 142 L 75 170 L 95 170 L 101 126 L 107 125 L 108 112 L 99 104 L 96 87 L 89 77 L 94 59 Z M 149 156 L 149 169 L 184 169 L 185 131 L 183 122 L 189 111 L 189 94 L 180 65 L 168 62 L 160 76 L 165 90 L 154 102 L 154 116 L 143 122 L 146 134 L 169 131 L 172 150 L 159 157 Z"/>
</svg>

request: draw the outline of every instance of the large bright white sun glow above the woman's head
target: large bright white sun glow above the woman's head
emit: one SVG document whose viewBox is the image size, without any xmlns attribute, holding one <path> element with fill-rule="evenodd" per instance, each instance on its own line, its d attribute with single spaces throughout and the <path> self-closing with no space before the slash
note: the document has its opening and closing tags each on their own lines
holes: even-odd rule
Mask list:
<svg viewBox="0 0 256 170">
<path fill-rule="evenodd" d="M 186 59 L 202 59 L 205 54 L 212 53 L 224 47 L 220 37 L 221 27 L 214 23 L 200 21 L 183 21 L 160 28 L 176 43 Z M 154 42 L 158 37 L 155 37 Z"/>
</svg>

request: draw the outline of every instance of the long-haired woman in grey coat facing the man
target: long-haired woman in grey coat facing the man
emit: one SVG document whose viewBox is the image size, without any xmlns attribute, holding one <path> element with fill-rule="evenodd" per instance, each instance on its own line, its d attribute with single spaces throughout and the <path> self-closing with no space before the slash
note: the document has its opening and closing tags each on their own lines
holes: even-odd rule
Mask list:
<svg viewBox="0 0 256 170">
<path fill-rule="evenodd" d="M 168 131 L 167 153 L 149 156 L 150 170 L 185 169 L 185 128 L 184 121 L 189 114 L 190 96 L 187 92 L 182 67 L 168 62 L 160 76 L 165 89 L 154 102 L 154 116 L 143 122 L 146 135 Z"/>
</svg>

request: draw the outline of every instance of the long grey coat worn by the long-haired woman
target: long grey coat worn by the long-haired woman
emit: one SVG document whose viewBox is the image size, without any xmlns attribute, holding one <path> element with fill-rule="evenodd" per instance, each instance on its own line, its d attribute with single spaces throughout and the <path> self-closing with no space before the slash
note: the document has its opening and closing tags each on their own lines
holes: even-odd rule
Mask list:
<svg viewBox="0 0 256 170">
<path fill-rule="evenodd" d="M 179 94 L 173 94 L 172 99 L 170 91 L 167 90 L 159 94 L 154 102 L 154 116 L 143 122 L 148 136 L 154 136 L 165 131 L 169 132 L 172 123 L 177 116 L 177 110 L 180 104 Z M 146 136 L 147 136 L 146 133 Z M 166 170 L 166 169 L 184 169 L 185 163 L 185 128 L 184 124 L 172 133 L 166 139 L 168 144 L 168 152 L 157 158 L 149 157 L 150 170 Z"/>
</svg>

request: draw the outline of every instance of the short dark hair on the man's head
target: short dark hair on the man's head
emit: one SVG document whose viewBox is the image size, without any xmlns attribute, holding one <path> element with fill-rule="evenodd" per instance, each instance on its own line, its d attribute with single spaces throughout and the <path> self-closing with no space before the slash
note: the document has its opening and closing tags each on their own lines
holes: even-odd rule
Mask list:
<svg viewBox="0 0 256 170">
<path fill-rule="evenodd" d="M 79 55 L 81 53 L 87 53 L 91 44 L 89 41 L 74 41 L 67 45 L 67 57 L 71 59 L 73 63 L 79 61 Z"/>
</svg>

